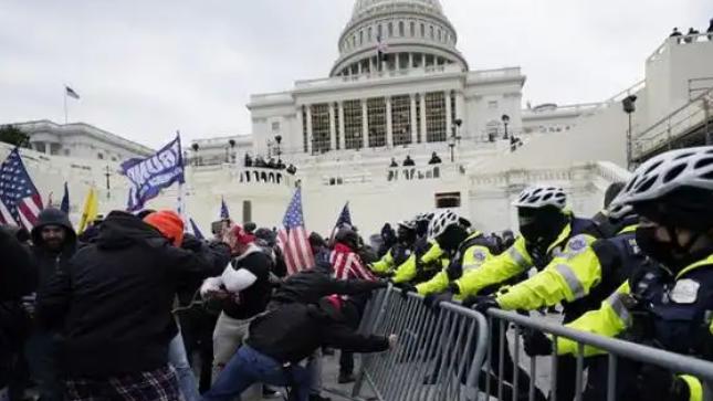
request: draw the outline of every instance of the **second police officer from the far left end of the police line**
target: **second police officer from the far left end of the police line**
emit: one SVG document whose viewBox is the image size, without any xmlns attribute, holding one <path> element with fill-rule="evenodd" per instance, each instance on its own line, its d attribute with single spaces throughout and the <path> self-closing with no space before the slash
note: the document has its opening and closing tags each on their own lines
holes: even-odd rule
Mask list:
<svg viewBox="0 0 713 401">
<path fill-rule="evenodd" d="M 413 252 L 401 263 L 395 272 L 391 281 L 397 286 L 408 284 L 419 284 L 427 282 L 448 266 L 448 255 L 439 246 L 438 242 L 428 239 L 428 226 L 433 220 L 436 213 L 421 213 L 417 215 L 416 222 L 416 244 Z"/>
</svg>

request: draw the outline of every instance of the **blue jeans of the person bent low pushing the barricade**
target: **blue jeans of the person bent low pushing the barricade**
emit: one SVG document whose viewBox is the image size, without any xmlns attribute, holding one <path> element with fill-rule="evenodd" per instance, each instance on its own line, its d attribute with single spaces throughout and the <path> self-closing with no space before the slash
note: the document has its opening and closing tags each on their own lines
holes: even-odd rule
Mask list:
<svg viewBox="0 0 713 401">
<path fill-rule="evenodd" d="M 254 383 L 291 387 L 291 401 L 310 399 L 310 372 L 301 366 L 289 369 L 276 360 L 243 345 L 220 372 L 203 401 L 230 401 Z"/>
</svg>

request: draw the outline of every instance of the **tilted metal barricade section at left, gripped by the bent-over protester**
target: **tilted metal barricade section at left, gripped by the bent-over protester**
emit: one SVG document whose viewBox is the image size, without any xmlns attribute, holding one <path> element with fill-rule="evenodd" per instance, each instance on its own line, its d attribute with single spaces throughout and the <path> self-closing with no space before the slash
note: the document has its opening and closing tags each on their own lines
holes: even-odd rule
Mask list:
<svg viewBox="0 0 713 401">
<path fill-rule="evenodd" d="M 364 333 L 399 336 L 399 346 L 384 353 L 364 355 L 353 398 L 368 384 L 381 401 L 472 400 L 485 359 L 487 323 L 475 310 L 455 304 L 438 309 L 423 297 L 398 288 L 376 294 L 367 306 Z"/>
</svg>

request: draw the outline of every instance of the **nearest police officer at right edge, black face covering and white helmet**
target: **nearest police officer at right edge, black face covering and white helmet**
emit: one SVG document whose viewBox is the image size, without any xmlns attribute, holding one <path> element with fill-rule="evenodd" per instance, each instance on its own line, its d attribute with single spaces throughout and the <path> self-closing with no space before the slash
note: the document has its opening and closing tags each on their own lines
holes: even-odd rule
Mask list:
<svg viewBox="0 0 713 401">
<path fill-rule="evenodd" d="M 619 336 L 712 360 L 713 147 L 680 149 L 641 165 L 615 203 L 641 217 L 637 243 L 660 263 L 639 268 L 598 310 L 569 327 Z M 559 352 L 577 345 L 558 340 Z M 585 353 L 596 350 L 585 347 Z M 710 399 L 709 383 L 651 366 L 639 374 L 641 400 Z"/>
</svg>

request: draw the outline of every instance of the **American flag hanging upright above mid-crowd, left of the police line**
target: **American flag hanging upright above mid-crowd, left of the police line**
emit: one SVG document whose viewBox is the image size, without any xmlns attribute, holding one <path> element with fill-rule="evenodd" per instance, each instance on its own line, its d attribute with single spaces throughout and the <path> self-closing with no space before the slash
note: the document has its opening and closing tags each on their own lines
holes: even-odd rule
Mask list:
<svg viewBox="0 0 713 401">
<path fill-rule="evenodd" d="M 277 232 L 277 244 L 285 255 L 287 274 L 314 267 L 314 255 L 310 246 L 307 231 L 304 228 L 301 188 L 297 188 L 292 197 L 282 224 L 283 228 Z"/>
</svg>

